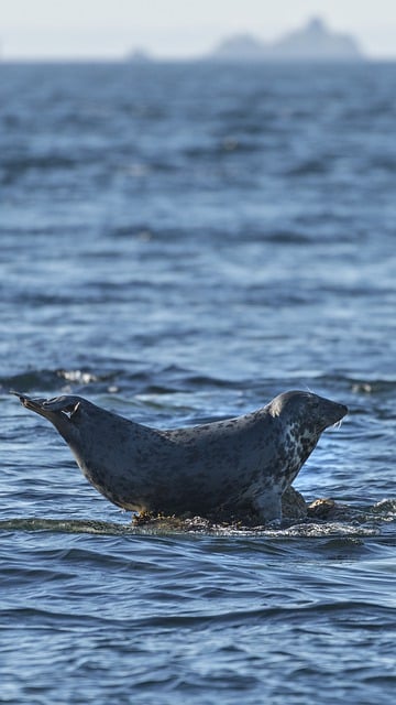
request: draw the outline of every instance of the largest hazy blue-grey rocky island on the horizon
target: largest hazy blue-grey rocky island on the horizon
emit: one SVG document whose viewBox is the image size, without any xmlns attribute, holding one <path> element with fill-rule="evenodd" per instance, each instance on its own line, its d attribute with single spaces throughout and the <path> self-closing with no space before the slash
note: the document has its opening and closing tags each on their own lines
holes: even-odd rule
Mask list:
<svg viewBox="0 0 396 705">
<path fill-rule="evenodd" d="M 224 62 L 334 62 L 360 61 L 363 53 L 353 36 L 332 32 L 322 20 L 314 18 L 301 29 L 272 43 L 250 34 L 227 39 L 210 58 Z"/>
</svg>

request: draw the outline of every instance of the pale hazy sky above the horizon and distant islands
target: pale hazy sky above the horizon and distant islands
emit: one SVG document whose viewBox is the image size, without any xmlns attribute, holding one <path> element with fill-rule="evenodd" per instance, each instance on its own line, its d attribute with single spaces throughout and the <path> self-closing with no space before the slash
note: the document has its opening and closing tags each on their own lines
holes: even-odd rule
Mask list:
<svg viewBox="0 0 396 705">
<path fill-rule="evenodd" d="M 272 41 L 312 17 L 396 58 L 396 0 L 0 0 L 3 59 L 119 59 L 144 48 L 193 58 L 223 37 Z"/>
</svg>

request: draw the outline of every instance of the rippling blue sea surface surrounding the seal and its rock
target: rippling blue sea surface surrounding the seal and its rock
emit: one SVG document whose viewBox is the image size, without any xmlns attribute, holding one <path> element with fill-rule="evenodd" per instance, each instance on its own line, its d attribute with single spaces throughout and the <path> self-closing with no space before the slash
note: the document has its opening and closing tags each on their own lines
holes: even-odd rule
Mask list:
<svg viewBox="0 0 396 705">
<path fill-rule="evenodd" d="M 1 703 L 395 702 L 395 64 L 0 64 Z M 346 518 L 134 528 L 10 389 L 309 389 L 350 413 L 295 487 Z"/>
</svg>

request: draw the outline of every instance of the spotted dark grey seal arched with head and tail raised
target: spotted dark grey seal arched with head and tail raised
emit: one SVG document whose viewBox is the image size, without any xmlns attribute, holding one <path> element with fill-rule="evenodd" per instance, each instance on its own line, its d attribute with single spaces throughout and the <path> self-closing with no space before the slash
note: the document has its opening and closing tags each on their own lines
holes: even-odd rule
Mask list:
<svg viewBox="0 0 396 705">
<path fill-rule="evenodd" d="M 348 413 L 317 394 L 288 391 L 252 413 L 163 431 L 75 395 L 12 392 L 66 441 L 82 474 L 107 499 L 139 512 L 252 513 L 280 521 L 290 487 L 321 433 Z"/>
</svg>

